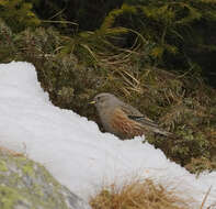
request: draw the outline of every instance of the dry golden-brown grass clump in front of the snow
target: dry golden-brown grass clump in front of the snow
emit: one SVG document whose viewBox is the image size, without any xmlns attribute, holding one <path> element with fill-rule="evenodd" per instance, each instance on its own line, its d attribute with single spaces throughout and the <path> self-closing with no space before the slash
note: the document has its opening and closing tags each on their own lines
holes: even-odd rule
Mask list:
<svg viewBox="0 0 216 209">
<path fill-rule="evenodd" d="M 125 184 L 121 189 L 114 184 L 92 197 L 90 205 L 93 209 L 189 209 L 190 200 L 147 179 Z"/>
</svg>

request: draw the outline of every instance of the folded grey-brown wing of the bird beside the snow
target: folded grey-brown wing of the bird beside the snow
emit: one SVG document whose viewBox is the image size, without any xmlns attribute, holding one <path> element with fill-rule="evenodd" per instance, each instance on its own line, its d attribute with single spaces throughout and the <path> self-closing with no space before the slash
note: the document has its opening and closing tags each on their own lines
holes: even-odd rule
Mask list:
<svg viewBox="0 0 216 209">
<path fill-rule="evenodd" d="M 146 125 L 149 125 L 149 127 L 159 128 L 156 122 L 150 120 L 148 117 L 144 116 L 141 112 L 139 112 L 134 107 L 132 107 L 129 105 L 126 105 L 126 103 L 123 103 L 121 106 L 121 108 L 127 114 L 127 117 L 130 120 L 135 120 L 136 122 L 139 122 L 139 123 L 141 123 L 144 125 L 146 124 Z"/>
</svg>

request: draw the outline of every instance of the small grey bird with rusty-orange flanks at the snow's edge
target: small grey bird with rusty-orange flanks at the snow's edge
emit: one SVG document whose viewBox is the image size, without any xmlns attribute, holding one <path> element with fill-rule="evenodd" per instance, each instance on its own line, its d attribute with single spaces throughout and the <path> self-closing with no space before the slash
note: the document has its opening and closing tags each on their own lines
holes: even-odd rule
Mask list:
<svg viewBox="0 0 216 209">
<path fill-rule="evenodd" d="M 104 130 L 122 140 L 149 132 L 172 138 L 172 133 L 161 130 L 156 122 L 112 94 L 101 92 L 90 103 L 95 106 Z"/>
</svg>

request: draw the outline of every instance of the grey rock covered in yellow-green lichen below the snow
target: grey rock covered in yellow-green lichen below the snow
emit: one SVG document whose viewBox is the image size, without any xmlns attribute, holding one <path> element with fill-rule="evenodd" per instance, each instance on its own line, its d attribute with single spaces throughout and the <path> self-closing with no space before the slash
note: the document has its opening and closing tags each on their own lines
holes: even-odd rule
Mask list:
<svg viewBox="0 0 216 209">
<path fill-rule="evenodd" d="M 91 209 L 38 163 L 0 151 L 1 209 Z"/>
</svg>

